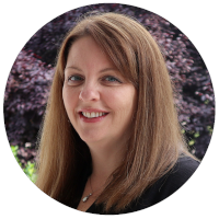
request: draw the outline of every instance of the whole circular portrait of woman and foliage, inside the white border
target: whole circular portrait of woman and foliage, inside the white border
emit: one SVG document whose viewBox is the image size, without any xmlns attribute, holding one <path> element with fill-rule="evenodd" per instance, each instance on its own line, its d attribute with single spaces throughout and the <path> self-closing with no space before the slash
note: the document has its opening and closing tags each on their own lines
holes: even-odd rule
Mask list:
<svg viewBox="0 0 219 219">
<path fill-rule="evenodd" d="M 154 206 L 197 170 L 215 123 L 206 65 L 141 8 L 68 11 L 19 53 L 4 92 L 11 150 L 55 200 L 97 215 Z"/>
</svg>

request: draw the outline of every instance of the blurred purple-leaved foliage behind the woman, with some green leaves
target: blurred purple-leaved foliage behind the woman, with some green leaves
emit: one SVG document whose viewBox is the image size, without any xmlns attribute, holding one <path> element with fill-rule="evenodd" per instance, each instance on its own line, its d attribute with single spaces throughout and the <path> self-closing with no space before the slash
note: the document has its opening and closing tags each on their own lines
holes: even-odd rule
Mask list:
<svg viewBox="0 0 219 219">
<path fill-rule="evenodd" d="M 34 182 L 36 140 L 56 57 L 66 33 L 89 11 L 119 12 L 141 22 L 162 48 L 175 84 L 175 103 L 191 151 L 203 159 L 215 122 L 211 80 L 197 49 L 172 23 L 147 10 L 116 3 L 92 4 L 57 16 L 26 43 L 15 59 L 4 93 L 4 123 L 11 149 Z"/>
</svg>

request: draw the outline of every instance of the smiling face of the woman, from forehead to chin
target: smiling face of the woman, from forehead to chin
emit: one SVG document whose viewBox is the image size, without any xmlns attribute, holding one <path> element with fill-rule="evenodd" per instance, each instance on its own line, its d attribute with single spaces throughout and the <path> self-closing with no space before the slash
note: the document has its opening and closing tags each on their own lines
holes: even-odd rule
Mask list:
<svg viewBox="0 0 219 219">
<path fill-rule="evenodd" d="M 71 124 L 88 145 L 124 143 L 130 136 L 136 89 L 90 36 L 69 50 L 62 97 Z"/>
</svg>

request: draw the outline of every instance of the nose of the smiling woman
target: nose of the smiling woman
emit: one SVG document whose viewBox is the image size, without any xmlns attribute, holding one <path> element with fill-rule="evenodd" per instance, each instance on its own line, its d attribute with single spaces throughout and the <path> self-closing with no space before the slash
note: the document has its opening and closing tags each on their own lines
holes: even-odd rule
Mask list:
<svg viewBox="0 0 219 219">
<path fill-rule="evenodd" d="M 94 83 L 84 84 L 79 94 L 79 100 L 83 102 L 99 101 L 100 92 L 97 90 L 97 85 Z"/>
</svg>

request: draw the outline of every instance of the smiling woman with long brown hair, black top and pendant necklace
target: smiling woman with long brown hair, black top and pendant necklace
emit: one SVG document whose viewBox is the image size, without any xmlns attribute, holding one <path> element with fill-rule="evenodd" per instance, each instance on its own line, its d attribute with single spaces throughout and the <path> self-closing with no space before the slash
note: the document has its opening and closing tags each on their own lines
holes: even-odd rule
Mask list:
<svg viewBox="0 0 219 219">
<path fill-rule="evenodd" d="M 39 141 L 36 185 L 87 212 L 152 206 L 198 166 L 177 122 L 164 58 L 122 14 L 92 14 L 66 36 Z"/>
</svg>

